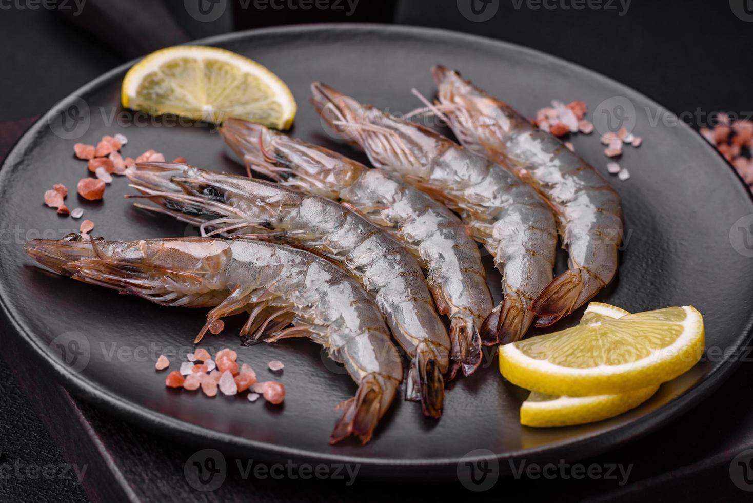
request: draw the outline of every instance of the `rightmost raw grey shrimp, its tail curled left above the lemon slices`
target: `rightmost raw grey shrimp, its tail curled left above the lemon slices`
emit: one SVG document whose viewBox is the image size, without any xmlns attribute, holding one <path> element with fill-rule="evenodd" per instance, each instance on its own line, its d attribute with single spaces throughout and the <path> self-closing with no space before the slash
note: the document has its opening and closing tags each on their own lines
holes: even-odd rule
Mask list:
<svg viewBox="0 0 753 503">
<path fill-rule="evenodd" d="M 620 196 L 586 161 L 510 105 L 444 66 L 432 70 L 441 105 L 460 142 L 505 162 L 549 200 L 569 251 L 569 268 L 538 294 L 531 308 L 548 326 L 586 303 L 614 279 L 622 242 Z"/>
</svg>

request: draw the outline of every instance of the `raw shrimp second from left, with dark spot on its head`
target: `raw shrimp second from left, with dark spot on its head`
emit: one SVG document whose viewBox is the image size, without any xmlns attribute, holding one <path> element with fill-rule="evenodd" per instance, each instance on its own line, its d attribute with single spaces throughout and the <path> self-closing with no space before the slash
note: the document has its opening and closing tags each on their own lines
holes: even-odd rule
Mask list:
<svg viewBox="0 0 753 503">
<path fill-rule="evenodd" d="M 395 339 L 413 358 L 406 399 L 420 401 L 427 416 L 441 416 L 450 337 L 418 261 L 388 230 L 334 201 L 271 181 L 180 163 L 137 164 L 127 175 L 140 197 L 160 205 L 142 208 L 200 226 L 206 236 L 266 236 L 318 252 L 348 270 L 373 294 Z"/>
</svg>

